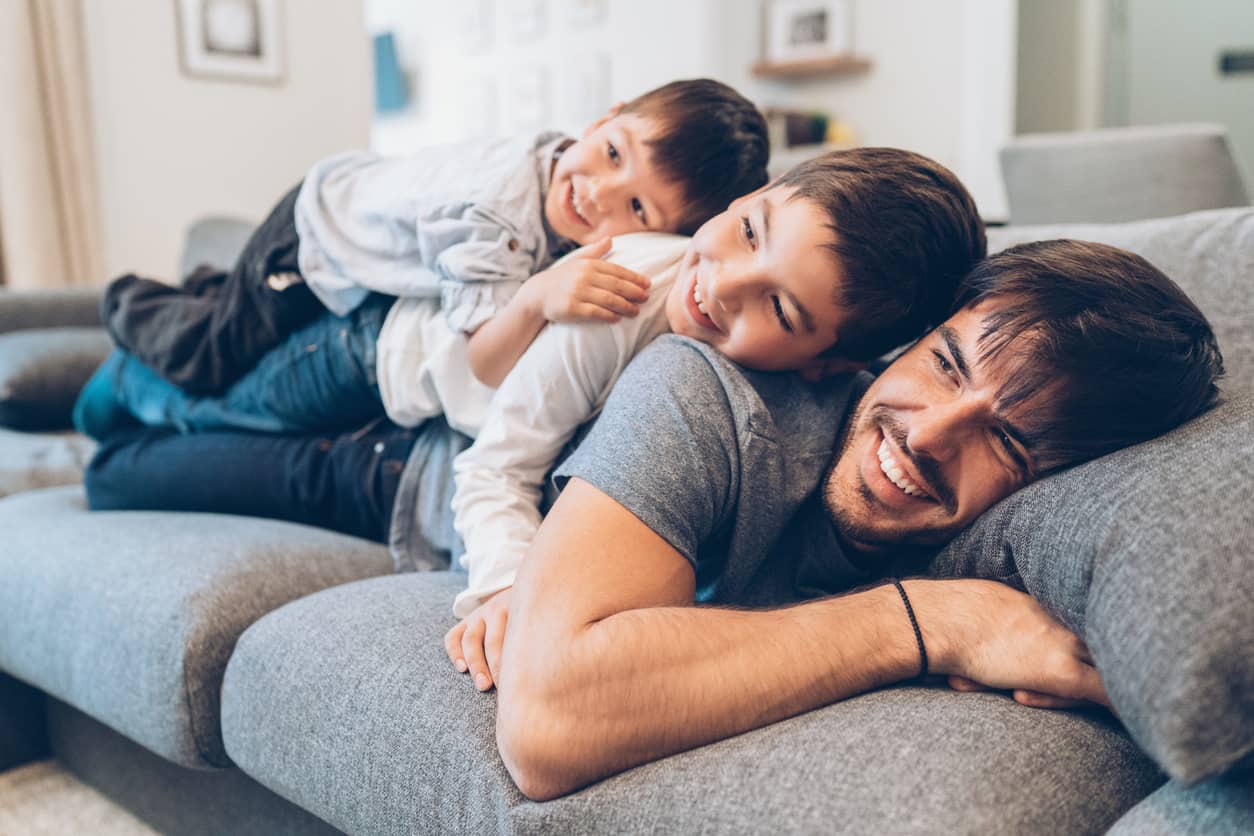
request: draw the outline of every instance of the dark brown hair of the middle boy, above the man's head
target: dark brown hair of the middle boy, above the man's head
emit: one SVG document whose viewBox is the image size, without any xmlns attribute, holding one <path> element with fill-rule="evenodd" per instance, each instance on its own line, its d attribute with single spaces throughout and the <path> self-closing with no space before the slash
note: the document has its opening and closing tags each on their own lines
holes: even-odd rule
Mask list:
<svg viewBox="0 0 1254 836">
<path fill-rule="evenodd" d="M 831 352 L 873 360 L 949 313 L 954 290 L 984 257 L 976 202 L 935 160 L 899 148 L 831 152 L 790 169 L 791 187 L 828 213 L 844 268 L 835 301 L 850 316 Z"/>
</svg>

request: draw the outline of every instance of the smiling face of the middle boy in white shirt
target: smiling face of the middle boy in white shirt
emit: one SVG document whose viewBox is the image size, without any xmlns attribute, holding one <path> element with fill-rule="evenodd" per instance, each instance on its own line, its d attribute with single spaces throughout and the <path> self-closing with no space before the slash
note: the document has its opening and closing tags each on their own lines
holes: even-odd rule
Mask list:
<svg viewBox="0 0 1254 836">
<path fill-rule="evenodd" d="M 836 342 L 846 313 L 828 217 L 794 192 L 754 192 L 697 229 L 666 300 L 671 331 L 766 371 L 804 368 Z"/>
</svg>

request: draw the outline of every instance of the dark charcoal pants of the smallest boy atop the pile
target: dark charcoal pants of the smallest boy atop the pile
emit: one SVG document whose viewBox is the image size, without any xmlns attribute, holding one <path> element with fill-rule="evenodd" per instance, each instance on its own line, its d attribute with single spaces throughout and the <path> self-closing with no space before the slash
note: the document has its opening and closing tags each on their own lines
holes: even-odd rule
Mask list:
<svg viewBox="0 0 1254 836">
<path fill-rule="evenodd" d="M 276 290 L 272 274 L 300 273 L 296 196 L 278 202 L 231 272 L 197 271 L 182 287 L 134 274 L 104 293 L 113 341 L 192 394 L 217 394 L 326 308 L 305 282 Z"/>
</svg>

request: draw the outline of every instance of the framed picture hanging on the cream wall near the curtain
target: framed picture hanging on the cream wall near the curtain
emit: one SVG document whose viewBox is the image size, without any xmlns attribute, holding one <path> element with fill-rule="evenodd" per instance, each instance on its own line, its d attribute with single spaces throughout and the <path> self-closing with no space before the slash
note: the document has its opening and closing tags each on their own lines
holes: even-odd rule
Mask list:
<svg viewBox="0 0 1254 836">
<path fill-rule="evenodd" d="M 174 0 L 183 74 L 277 84 L 283 78 L 281 0 Z"/>
</svg>

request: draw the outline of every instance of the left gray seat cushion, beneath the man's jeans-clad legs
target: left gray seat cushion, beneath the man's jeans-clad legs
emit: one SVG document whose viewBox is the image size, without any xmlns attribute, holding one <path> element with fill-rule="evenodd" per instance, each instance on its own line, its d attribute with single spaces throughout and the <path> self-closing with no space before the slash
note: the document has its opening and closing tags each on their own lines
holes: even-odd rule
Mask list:
<svg viewBox="0 0 1254 836">
<path fill-rule="evenodd" d="M 381 545 L 245 516 L 88 513 L 79 488 L 0 500 L 0 669 L 158 755 L 226 766 L 222 672 L 252 622 L 391 570 Z"/>
</svg>

